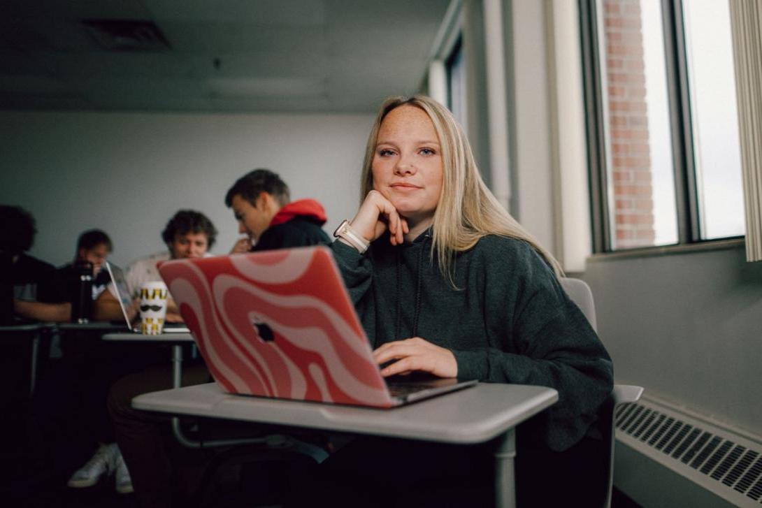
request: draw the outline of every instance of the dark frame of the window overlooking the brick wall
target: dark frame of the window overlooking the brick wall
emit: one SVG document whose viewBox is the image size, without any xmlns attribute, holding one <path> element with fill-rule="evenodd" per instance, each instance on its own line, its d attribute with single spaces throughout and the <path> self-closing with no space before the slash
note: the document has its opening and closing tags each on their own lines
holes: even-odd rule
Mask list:
<svg viewBox="0 0 762 508">
<path fill-rule="evenodd" d="M 611 211 L 608 206 L 605 107 L 607 99 L 602 86 L 600 37 L 597 30 L 599 0 L 578 0 L 582 48 L 585 134 L 588 149 L 588 174 L 591 196 L 593 252 L 658 251 L 674 245 L 717 244 L 719 241 L 744 238 L 701 238 L 699 189 L 693 152 L 693 125 L 690 113 L 690 84 L 681 0 L 661 0 L 664 34 L 667 97 L 674 168 L 675 206 L 677 211 L 677 244 L 636 248 L 612 248 Z"/>
</svg>

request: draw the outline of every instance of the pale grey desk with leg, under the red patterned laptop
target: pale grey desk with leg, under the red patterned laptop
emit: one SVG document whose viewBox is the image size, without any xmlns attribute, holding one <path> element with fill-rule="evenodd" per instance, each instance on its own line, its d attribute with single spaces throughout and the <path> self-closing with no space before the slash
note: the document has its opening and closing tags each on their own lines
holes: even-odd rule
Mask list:
<svg viewBox="0 0 762 508">
<path fill-rule="evenodd" d="M 230 395 L 209 383 L 139 395 L 133 398 L 133 407 L 439 443 L 475 444 L 502 436 L 495 449 L 495 506 L 513 507 L 514 427 L 558 398 L 552 388 L 481 383 L 409 406 L 381 410 Z"/>
</svg>

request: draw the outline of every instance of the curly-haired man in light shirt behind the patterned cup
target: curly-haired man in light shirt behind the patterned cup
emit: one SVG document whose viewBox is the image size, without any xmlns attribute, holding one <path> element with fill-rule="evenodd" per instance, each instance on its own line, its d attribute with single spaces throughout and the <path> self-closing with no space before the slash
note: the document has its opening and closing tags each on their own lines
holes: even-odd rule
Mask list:
<svg viewBox="0 0 762 508">
<path fill-rule="evenodd" d="M 167 222 L 162 231 L 162 240 L 167 244 L 167 250 L 142 257 L 126 267 L 124 277 L 133 296 L 137 296 L 140 286 L 152 280 L 162 280 L 156 264 L 168 259 L 183 259 L 186 257 L 207 256 L 217 236 L 217 230 L 207 216 L 195 210 L 180 210 Z M 133 317 L 137 308 L 130 309 Z M 117 300 L 114 285 L 108 291 L 101 293 L 95 301 L 94 318 L 98 321 L 120 321 L 122 311 Z M 167 302 L 167 322 L 182 321 L 177 305 L 170 298 Z"/>
</svg>

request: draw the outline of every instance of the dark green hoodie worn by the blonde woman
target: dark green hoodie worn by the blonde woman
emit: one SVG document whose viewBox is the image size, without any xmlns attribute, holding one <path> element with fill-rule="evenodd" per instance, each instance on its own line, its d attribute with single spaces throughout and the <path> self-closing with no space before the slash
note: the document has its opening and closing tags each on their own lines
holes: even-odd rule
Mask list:
<svg viewBox="0 0 762 508">
<path fill-rule="evenodd" d="M 558 403 L 530 433 L 555 451 L 577 443 L 613 385 L 587 318 L 530 244 L 482 238 L 457 255 L 455 289 L 432 260 L 430 234 L 397 247 L 383 235 L 364 255 L 333 244 L 373 348 L 422 337 L 453 351 L 461 379 L 555 388 Z"/>
</svg>

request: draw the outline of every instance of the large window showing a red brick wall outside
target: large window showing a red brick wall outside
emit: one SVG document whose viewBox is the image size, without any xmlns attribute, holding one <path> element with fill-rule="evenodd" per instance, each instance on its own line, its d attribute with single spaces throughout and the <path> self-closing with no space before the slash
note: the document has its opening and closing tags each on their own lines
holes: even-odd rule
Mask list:
<svg viewBox="0 0 762 508">
<path fill-rule="evenodd" d="M 580 5 L 595 251 L 743 235 L 727 2 Z"/>
</svg>

